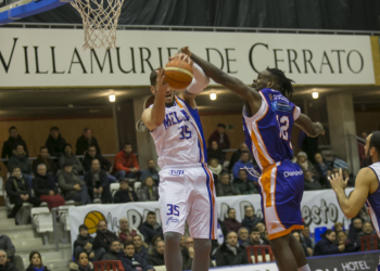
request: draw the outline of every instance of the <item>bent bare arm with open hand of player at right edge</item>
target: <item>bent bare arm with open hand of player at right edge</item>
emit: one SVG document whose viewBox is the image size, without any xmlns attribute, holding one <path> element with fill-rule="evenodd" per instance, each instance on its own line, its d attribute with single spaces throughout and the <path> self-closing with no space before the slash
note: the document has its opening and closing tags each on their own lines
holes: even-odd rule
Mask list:
<svg viewBox="0 0 380 271">
<path fill-rule="evenodd" d="M 344 189 L 346 188 L 349 180 L 343 181 L 342 169 L 340 169 L 340 172 L 335 176 L 331 176 L 329 180 L 331 188 L 337 194 L 338 203 L 341 206 L 344 216 L 349 219 L 356 217 L 366 203 L 370 192 L 377 190 L 375 185 L 379 182 L 372 169 L 363 168 L 356 177 L 354 191 L 347 197 Z"/>
</svg>

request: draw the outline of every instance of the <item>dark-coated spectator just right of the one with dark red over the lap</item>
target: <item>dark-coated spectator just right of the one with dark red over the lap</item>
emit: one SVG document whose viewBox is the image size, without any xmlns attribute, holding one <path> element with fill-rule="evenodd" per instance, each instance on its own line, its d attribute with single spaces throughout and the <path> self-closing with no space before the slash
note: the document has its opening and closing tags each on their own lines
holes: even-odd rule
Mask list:
<svg viewBox="0 0 380 271">
<path fill-rule="evenodd" d="M 91 203 L 86 182 L 73 171 L 72 162 L 67 160 L 63 165 L 63 170 L 58 175 L 58 183 L 66 201 L 81 202 L 83 205 Z"/>
</svg>

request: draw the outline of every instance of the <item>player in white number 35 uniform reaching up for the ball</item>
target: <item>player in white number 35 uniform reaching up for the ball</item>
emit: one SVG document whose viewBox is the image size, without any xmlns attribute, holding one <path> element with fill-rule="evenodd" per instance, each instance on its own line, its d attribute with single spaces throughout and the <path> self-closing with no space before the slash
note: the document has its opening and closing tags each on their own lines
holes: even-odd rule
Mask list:
<svg viewBox="0 0 380 271">
<path fill-rule="evenodd" d="M 167 271 L 182 270 L 180 238 L 188 222 L 194 238 L 193 271 L 208 270 L 211 240 L 217 231 L 215 185 L 206 162 L 206 145 L 194 98 L 210 79 L 185 54 L 177 54 L 193 68 L 187 90 L 172 91 L 161 68 L 151 74 L 153 106 L 142 113 L 159 154 L 160 210 L 165 238 Z"/>
</svg>

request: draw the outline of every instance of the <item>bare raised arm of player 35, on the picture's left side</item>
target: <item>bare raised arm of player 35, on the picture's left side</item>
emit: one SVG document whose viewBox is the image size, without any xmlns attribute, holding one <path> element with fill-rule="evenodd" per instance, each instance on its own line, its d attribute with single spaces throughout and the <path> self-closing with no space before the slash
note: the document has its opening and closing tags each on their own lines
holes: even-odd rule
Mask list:
<svg viewBox="0 0 380 271">
<path fill-rule="evenodd" d="M 154 130 L 164 122 L 165 118 L 165 96 L 167 93 L 167 83 L 165 82 L 165 70 L 156 70 L 157 79 L 155 85 L 154 103 L 142 113 L 142 121 L 149 130 Z"/>
</svg>

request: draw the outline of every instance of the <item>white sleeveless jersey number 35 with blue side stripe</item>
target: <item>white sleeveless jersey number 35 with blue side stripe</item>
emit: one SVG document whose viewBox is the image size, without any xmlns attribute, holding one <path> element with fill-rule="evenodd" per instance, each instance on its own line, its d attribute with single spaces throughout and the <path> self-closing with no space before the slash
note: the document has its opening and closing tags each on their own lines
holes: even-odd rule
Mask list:
<svg viewBox="0 0 380 271">
<path fill-rule="evenodd" d="M 159 154 L 159 166 L 201 165 L 207 162 L 206 145 L 198 109 L 175 96 L 165 108 L 164 122 L 151 131 Z"/>
</svg>

